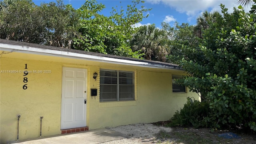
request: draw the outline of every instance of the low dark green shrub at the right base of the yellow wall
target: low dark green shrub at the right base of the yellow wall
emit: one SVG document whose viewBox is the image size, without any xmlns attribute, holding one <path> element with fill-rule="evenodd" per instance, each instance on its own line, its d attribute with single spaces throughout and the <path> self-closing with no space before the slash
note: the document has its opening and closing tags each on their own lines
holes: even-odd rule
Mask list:
<svg viewBox="0 0 256 144">
<path fill-rule="evenodd" d="M 199 102 L 194 98 L 187 98 L 184 107 L 170 119 L 171 122 L 166 126 L 193 126 L 195 128 L 208 127 L 208 122 L 204 119 L 210 113 L 208 102 Z"/>
</svg>

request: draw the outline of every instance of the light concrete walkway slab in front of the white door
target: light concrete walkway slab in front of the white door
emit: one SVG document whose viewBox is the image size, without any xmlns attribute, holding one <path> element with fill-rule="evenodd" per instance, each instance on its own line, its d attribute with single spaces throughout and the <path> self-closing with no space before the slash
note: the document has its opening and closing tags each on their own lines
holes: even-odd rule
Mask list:
<svg viewBox="0 0 256 144">
<path fill-rule="evenodd" d="M 15 144 L 100 144 L 112 140 L 127 138 L 125 134 L 115 132 L 106 128 L 88 130 L 71 134 L 61 134 L 54 137 L 38 138 L 33 140 L 20 140 Z"/>
</svg>

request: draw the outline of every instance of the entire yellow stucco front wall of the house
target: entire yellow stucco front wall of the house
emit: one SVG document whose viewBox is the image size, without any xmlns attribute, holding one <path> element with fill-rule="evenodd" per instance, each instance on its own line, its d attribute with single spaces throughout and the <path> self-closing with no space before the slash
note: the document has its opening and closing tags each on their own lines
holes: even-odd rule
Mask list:
<svg viewBox="0 0 256 144">
<path fill-rule="evenodd" d="M 25 84 L 23 82 L 25 64 L 28 70 L 32 71 L 26 76 L 28 78 L 26 90 L 22 88 Z M 172 74 L 183 74 L 178 70 L 142 68 L 20 52 L 2 54 L 0 58 L 1 144 L 17 139 L 18 114 L 21 115 L 20 140 L 40 136 L 40 116 L 44 116 L 42 136 L 61 133 L 62 67 L 88 70 L 86 125 L 89 129 L 169 120 L 186 102 L 186 97 L 198 98 L 197 94 L 191 92 L 172 93 Z M 99 74 L 101 68 L 135 72 L 135 100 L 99 102 L 100 75 L 95 81 L 92 74 L 94 72 Z M 10 73 L 6 70 L 17 72 Z M 50 70 L 50 73 L 34 73 L 33 70 L 43 72 Z M 98 89 L 96 99 L 90 96 L 91 88 Z"/>
</svg>

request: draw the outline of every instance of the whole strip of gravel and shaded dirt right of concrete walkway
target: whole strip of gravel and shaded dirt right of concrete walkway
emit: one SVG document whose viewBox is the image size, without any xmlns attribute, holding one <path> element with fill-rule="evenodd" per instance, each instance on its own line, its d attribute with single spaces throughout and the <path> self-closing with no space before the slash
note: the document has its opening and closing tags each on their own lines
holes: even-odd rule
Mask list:
<svg viewBox="0 0 256 144">
<path fill-rule="evenodd" d="M 159 124 L 162 124 L 161 122 Z M 234 131 L 240 138 L 220 138 L 220 134 L 229 136 L 231 131 L 218 130 L 210 132 L 210 128 L 166 128 L 153 124 L 131 124 L 110 128 L 129 137 L 102 144 L 256 144 L 255 133 Z"/>
</svg>

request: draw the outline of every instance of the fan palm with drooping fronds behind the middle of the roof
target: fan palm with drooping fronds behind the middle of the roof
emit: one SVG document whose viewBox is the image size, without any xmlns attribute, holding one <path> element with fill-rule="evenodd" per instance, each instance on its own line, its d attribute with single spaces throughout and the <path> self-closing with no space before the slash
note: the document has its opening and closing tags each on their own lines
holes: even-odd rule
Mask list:
<svg viewBox="0 0 256 144">
<path fill-rule="evenodd" d="M 168 48 L 166 32 L 156 28 L 154 24 L 140 26 L 131 40 L 134 51 L 141 50 L 146 60 L 166 61 Z"/>
</svg>

